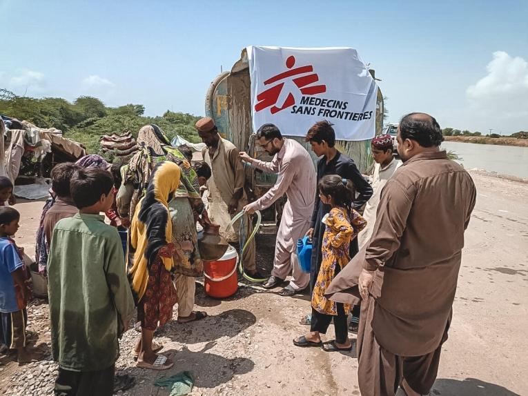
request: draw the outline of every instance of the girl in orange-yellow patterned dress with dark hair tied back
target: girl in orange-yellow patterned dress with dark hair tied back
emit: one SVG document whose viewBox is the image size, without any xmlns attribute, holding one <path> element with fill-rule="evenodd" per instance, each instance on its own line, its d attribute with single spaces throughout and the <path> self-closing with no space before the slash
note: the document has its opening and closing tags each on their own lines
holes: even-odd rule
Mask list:
<svg viewBox="0 0 528 396">
<path fill-rule="evenodd" d="M 312 293 L 310 333 L 293 340 L 295 346 L 322 346 L 323 350 L 351 350 L 346 317 L 348 304 L 336 303 L 324 297 L 331 281 L 349 263 L 350 241 L 366 226 L 361 215 L 351 208 L 353 190 L 351 183 L 338 175 L 326 175 L 319 182 L 319 197 L 331 210 L 322 221 L 326 224 L 322 241 L 322 263 Z M 333 319 L 335 340 L 322 343 L 320 333 Z"/>
</svg>

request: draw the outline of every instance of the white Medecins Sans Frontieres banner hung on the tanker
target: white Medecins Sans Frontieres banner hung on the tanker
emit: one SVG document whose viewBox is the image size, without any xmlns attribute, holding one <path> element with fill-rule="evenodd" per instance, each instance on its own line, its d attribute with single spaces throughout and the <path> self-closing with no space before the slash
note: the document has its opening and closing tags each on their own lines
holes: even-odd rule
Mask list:
<svg viewBox="0 0 528 396">
<path fill-rule="evenodd" d="M 375 135 L 378 86 L 353 48 L 247 48 L 253 130 L 274 123 L 306 136 L 317 121 L 334 124 L 340 140 Z"/>
</svg>

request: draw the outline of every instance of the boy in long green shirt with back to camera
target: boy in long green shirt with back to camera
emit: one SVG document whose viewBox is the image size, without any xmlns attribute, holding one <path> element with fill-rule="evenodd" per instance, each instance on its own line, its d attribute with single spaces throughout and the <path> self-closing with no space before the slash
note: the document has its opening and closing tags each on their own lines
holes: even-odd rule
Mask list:
<svg viewBox="0 0 528 396">
<path fill-rule="evenodd" d="M 79 213 L 57 223 L 48 258 L 55 395 L 110 396 L 118 338 L 134 310 L 121 239 L 99 215 L 113 204 L 112 175 L 80 169 L 70 192 Z"/>
</svg>

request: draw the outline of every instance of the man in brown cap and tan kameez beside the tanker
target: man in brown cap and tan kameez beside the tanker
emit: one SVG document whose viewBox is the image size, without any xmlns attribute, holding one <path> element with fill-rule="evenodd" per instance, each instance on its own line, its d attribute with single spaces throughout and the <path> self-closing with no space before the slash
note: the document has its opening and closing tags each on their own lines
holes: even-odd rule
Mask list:
<svg viewBox="0 0 528 396">
<path fill-rule="evenodd" d="M 207 180 L 209 218 L 220 225 L 220 234 L 230 242 L 237 242 L 239 235 L 239 221 L 233 228 L 227 228 L 233 216 L 244 206 L 247 199 L 244 192 L 244 165 L 238 159 L 238 149 L 231 141 L 222 139 L 218 128 L 211 117 L 199 119 L 196 123 L 199 137 L 206 144 L 202 150 L 202 157 L 211 167 L 212 175 Z M 248 215 L 244 217 L 246 236 L 251 234 L 252 224 Z M 250 277 L 262 278 L 255 269 L 255 240 L 252 240 L 244 256 L 244 271 Z"/>
</svg>

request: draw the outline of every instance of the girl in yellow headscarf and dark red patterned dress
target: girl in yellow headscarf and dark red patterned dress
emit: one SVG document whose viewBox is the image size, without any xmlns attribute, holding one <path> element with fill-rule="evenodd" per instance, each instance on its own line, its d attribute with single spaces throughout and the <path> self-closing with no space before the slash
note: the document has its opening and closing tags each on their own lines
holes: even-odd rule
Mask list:
<svg viewBox="0 0 528 396">
<path fill-rule="evenodd" d="M 146 195 L 138 202 L 130 226 L 133 265 L 129 276 L 138 301 L 141 339 L 136 345 L 137 366 L 165 370 L 173 366 L 164 355 L 153 350 L 153 335 L 173 316 L 176 290 L 170 279 L 173 268 L 173 227 L 168 202 L 179 185 L 181 170 L 173 162 L 162 162 L 153 170 Z"/>
</svg>

